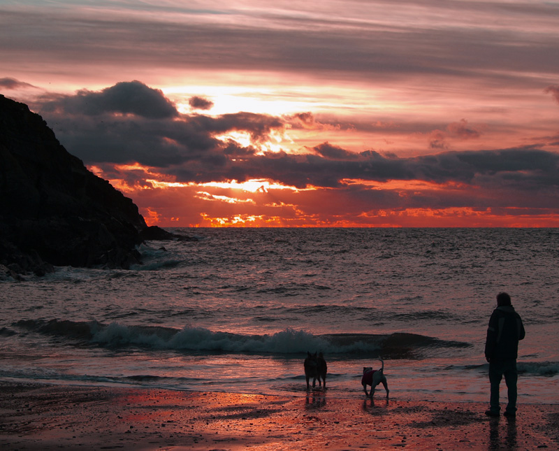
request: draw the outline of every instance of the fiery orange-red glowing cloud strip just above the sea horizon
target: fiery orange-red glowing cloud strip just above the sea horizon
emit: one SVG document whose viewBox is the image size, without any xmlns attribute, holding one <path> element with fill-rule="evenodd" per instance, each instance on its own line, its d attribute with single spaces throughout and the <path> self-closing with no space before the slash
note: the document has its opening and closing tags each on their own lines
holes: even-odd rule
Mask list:
<svg viewBox="0 0 559 451">
<path fill-rule="evenodd" d="M 256 188 L 260 185 L 262 189 Z M 491 193 L 447 185 L 347 180 L 344 188 L 242 184 L 161 184 L 131 193 L 150 224 L 162 227 L 557 227 L 556 208 L 503 206 Z M 494 196 L 495 194 L 493 194 Z M 435 199 L 437 201 L 435 202 Z M 477 203 L 479 207 L 469 204 Z M 481 199 L 481 202 L 480 200 Z M 528 199 L 527 199 L 528 200 Z M 438 207 L 422 207 L 422 203 Z M 446 206 L 447 204 L 456 206 Z M 418 206 L 414 206 L 414 204 Z"/>
</svg>

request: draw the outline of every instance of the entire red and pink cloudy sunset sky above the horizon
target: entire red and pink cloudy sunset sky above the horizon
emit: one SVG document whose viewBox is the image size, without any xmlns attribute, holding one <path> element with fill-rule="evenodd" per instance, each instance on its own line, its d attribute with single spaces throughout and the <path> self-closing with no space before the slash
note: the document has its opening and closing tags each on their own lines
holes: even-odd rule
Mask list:
<svg viewBox="0 0 559 451">
<path fill-rule="evenodd" d="M 559 1 L 0 0 L 0 93 L 161 227 L 559 227 Z"/>
</svg>

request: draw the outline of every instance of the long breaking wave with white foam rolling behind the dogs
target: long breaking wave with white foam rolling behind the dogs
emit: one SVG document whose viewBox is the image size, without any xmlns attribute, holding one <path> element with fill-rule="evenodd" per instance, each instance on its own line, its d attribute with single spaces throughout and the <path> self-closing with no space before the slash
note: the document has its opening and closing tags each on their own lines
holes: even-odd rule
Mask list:
<svg viewBox="0 0 559 451">
<path fill-rule="evenodd" d="M 13 327 L 38 334 L 66 338 L 82 345 L 103 348 L 147 348 L 183 352 L 264 353 L 277 355 L 321 351 L 328 355 L 386 358 L 413 357 L 426 348 L 466 348 L 470 343 L 444 341 L 418 334 L 325 334 L 285 329 L 275 334 L 244 335 L 211 331 L 202 327 L 182 329 L 158 326 L 131 326 L 112 322 L 72 322 L 68 320 L 22 320 Z"/>
</svg>

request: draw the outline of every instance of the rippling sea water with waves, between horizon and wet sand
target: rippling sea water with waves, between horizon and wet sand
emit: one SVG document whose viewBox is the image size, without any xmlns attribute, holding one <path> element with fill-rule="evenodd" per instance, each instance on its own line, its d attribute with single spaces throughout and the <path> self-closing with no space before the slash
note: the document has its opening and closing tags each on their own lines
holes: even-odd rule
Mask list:
<svg viewBox="0 0 559 451">
<path fill-rule="evenodd" d="M 559 229 L 173 229 L 129 271 L 0 282 L 0 378 L 362 399 L 488 401 L 495 296 L 523 317 L 519 403 L 559 402 Z M 502 397 L 506 389 L 504 382 Z M 377 387 L 375 396 L 384 396 Z"/>
</svg>

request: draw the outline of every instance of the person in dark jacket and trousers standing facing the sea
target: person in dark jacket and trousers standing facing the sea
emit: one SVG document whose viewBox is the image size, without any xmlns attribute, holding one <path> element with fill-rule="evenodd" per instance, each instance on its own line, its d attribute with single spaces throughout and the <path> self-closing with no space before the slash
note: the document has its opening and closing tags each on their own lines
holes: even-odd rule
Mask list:
<svg viewBox="0 0 559 451">
<path fill-rule="evenodd" d="M 497 295 L 497 308 L 493 310 L 487 328 L 485 342 L 485 358 L 489 362 L 489 383 L 491 397 L 486 415 L 498 417 L 499 385 L 502 376 L 508 389 L 508 404 L 504 416 L 516 417 L 516 357 L 518 357 L 518 341 L 525 336 L 522 319 L 511 305 L 511 296 L 507 293 Z"/>
</svg>

